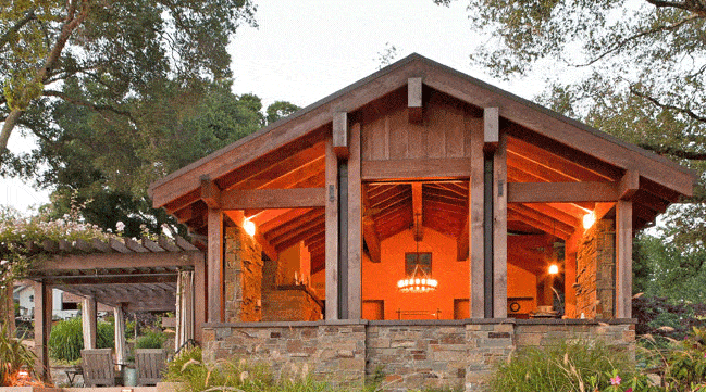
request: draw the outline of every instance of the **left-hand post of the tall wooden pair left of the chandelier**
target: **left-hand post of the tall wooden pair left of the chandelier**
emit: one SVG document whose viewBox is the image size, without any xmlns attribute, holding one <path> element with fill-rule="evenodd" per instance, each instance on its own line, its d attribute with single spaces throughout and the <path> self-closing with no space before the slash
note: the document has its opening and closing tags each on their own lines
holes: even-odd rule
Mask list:
<svg viewBox="0 0 706 392">
<path fill-rule="evenodd" d="M 349 151 L 350 153 L 350 151 Z M 327 320 L 338 319 L 338 160 L 326 140 L 325 291 Z"/>
</svg>

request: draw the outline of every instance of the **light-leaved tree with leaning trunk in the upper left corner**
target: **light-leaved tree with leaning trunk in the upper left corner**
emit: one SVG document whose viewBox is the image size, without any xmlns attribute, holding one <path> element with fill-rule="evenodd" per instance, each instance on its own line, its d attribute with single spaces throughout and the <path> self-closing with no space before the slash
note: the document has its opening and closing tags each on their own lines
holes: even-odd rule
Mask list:
<svg viewBox="0 0 706 392">
<path fill-rule="evenodd" d="M 228 37 L 255 24 L 249 0 L 27 0 L 0 5 L 0 157 L 15 126 L 48 140 L 25 114 L 62 100 L 135 119 L 131 102 L 151 98 L 154 80 L 187 86 L 231 75 Z M 69 78 L 94 85 L 78 97 Z M 58 88 L 59 87 L 59 88 Z"/>
</svg>

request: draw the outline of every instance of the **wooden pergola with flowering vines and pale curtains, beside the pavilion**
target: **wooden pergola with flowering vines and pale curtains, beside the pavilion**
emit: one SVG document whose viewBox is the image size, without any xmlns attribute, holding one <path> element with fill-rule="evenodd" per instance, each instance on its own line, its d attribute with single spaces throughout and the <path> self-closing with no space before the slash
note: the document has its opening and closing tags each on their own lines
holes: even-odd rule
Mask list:
<svg viewBox="0 0 706 392">
<path fill-rule="evenodd" d="M 52 288 L 84 298 L 84 347 L 96 347 L 97 303 L 115 312 L 116 359 L 124 358 L 124 312 L 176 312 L 177 340 L 200 340 L 203 323 L 203 253 L 181 237 L 77 240 L 29 243 L 36 260 L 26 279 L 34 281 L 35 346 L 38 369 L 49 377 L 47 342 L 51 332 Z M 201 312 L 195 312 L 201 309 Z"/>
</svg>

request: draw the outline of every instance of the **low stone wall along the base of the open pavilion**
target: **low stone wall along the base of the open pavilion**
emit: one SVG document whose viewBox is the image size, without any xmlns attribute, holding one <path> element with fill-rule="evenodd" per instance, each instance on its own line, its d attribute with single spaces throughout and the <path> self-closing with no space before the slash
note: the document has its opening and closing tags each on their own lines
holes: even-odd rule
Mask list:
<svg viewBox="0 0 706 392">
<path fill-rule="evenodd" d="M 267 363 L 276 377 L 361 384 L 384 376 L 386 391 L 426 387 L 482 391 L 518 347 L 603 339 L 634 350 L 634 320 L 384 320 L 208 324 L 205 359 Z"/>
</svg>

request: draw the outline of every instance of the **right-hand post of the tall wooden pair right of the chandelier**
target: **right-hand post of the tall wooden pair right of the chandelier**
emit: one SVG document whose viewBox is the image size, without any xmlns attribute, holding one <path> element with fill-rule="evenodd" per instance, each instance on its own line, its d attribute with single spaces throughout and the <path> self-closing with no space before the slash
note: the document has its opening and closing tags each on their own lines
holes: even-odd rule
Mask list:
<svg viewBox="0 0 706 392">
<path fill-rule="evenodd" d="M 493 317 L 507 318 L 507 135 L 493 156 Z"/>
</svg>

